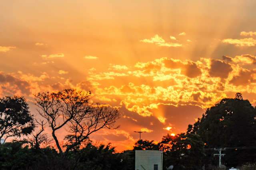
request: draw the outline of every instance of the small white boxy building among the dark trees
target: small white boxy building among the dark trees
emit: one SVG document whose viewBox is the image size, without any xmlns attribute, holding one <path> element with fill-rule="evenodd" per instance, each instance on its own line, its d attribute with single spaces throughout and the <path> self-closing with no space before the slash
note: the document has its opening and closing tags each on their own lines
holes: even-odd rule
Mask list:
<svg viewBox="0 0 256 170">
<path fill-rule="evenodd" d="M 163 151 L 135 150 L 135 170 L 162 170 Z"/>
</svg>

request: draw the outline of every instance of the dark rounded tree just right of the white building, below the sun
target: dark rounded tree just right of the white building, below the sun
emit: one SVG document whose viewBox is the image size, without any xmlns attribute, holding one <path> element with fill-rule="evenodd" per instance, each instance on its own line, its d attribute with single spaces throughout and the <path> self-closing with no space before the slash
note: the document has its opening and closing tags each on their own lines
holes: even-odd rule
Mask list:
<svg viewBox="0 0 256 170">
<path fill-rule="evenodd" d="M 167 134 L 158 143 L 164 152 L 164 167 L 174 166 L 174 170 L 197 170 L 202 166 L 204 143 L 199 135 L 180 133 L 175 136 Z"/>
</svg>

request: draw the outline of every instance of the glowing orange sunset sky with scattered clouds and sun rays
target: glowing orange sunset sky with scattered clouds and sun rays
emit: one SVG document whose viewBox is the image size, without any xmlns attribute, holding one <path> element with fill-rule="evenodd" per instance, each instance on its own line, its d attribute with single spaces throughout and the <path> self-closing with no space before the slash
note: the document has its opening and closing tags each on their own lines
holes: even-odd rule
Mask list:
<svg viewBox="0 0 256 170">
<path fill-rule="evenodd" d="M 8 0 L 0 6 L 0 97 L 65 88 L 119 108 L 90 138 L 117 151 L 185 132 L 241 92 L 256 102 L 256 2 Z M 65 130 L 58 131 L 63 139 Z"/>
</svg>

